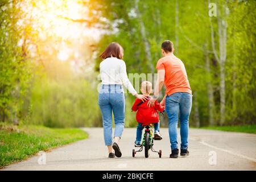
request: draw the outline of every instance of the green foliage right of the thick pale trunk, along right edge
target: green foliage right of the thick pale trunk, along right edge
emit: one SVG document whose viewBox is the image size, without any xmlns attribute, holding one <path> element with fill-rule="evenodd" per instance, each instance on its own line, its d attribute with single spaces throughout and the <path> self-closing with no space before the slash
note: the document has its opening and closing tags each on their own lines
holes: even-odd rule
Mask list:
<svg viewBox="0 0 256 182">
<path fill-rule="evenodd" d="M 230 93 L 227 118 L 229 123 L 253 124 L 256 120 L 256 52 L 253 51 L 256 48 L 256 3 L 233 2 L 230 6 L 233 11 L 229 19 L 230 56 L 226 67 Z"/>
</svg>

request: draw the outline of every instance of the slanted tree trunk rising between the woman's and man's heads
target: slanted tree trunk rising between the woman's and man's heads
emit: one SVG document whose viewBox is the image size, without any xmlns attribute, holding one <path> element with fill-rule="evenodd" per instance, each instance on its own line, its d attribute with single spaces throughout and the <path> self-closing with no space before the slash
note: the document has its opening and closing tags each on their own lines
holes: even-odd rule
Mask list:
<svg viewBox="0 0 256 182">
<path fill-rule="evenodd" d="M 141 11 L 139 10 L 139 0 L 135 1 L 135 11 L 138 16 L 139 25 L 141 26 L 140 31 L 141 31 L 141 36 L 142 36 L 142 42 L 144 44 L 144 51 L 146 53 L 146 59 L 148 62 L 148 68 L 150 69 L 151 73 L 154 73 L 155 69 L 154 69 L 154 65 L 152 62 L 152 57 L 151 57 L 151 52 L 150 52 L 150 44 L 148 43 L 148 40 L 147 40 L 146 28 L 144 26 L 144 22 L 141 17 Z"/>
</svg>

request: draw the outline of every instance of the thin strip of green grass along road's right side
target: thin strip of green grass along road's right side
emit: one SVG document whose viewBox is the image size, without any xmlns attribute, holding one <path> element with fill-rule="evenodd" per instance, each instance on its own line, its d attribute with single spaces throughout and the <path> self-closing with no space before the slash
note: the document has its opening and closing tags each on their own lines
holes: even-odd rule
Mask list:
<svg viewBox="0 0 256 182">
<path fill-rule="evenodd" d="M 234 132 L 242 132 L 242 133 L 253 133 L 253 134 L 256 134 L 256 125 L 242 125 L 242 126 L 210 126 L 210 127 L 201 127 L 201 129 L 222 130 L 222 131 L 234 131 Z"/>
</svg>

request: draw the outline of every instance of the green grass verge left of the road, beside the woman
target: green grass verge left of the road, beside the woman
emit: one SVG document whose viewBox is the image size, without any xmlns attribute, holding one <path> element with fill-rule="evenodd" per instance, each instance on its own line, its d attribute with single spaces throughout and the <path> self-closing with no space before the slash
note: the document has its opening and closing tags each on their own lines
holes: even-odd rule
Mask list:
<svg viewBox="0 0 256 182">
<path fill-rule="evenodd" d="M 80 129 L 51 129 L 44 126 L 0 124 L 0 168 L 39 151 L 88 138 Z"/>
</svg>

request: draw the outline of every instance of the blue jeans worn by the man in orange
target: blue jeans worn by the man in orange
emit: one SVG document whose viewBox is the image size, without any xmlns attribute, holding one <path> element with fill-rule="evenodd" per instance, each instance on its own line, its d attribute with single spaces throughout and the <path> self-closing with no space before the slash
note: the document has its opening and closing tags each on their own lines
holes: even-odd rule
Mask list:
<svg viewBox="0 0 256 182">
<path fill-rule="evenodd" d="M 180 148 L 188 148 L 188 118 L 192 106 L 192 95 L 185 92 L 177 92 L 166 97 L 166 112 L 169 121 L 169 137 L 171 150 L 178 148 L 177 122 L 180 118 Z"/>
</svg>

